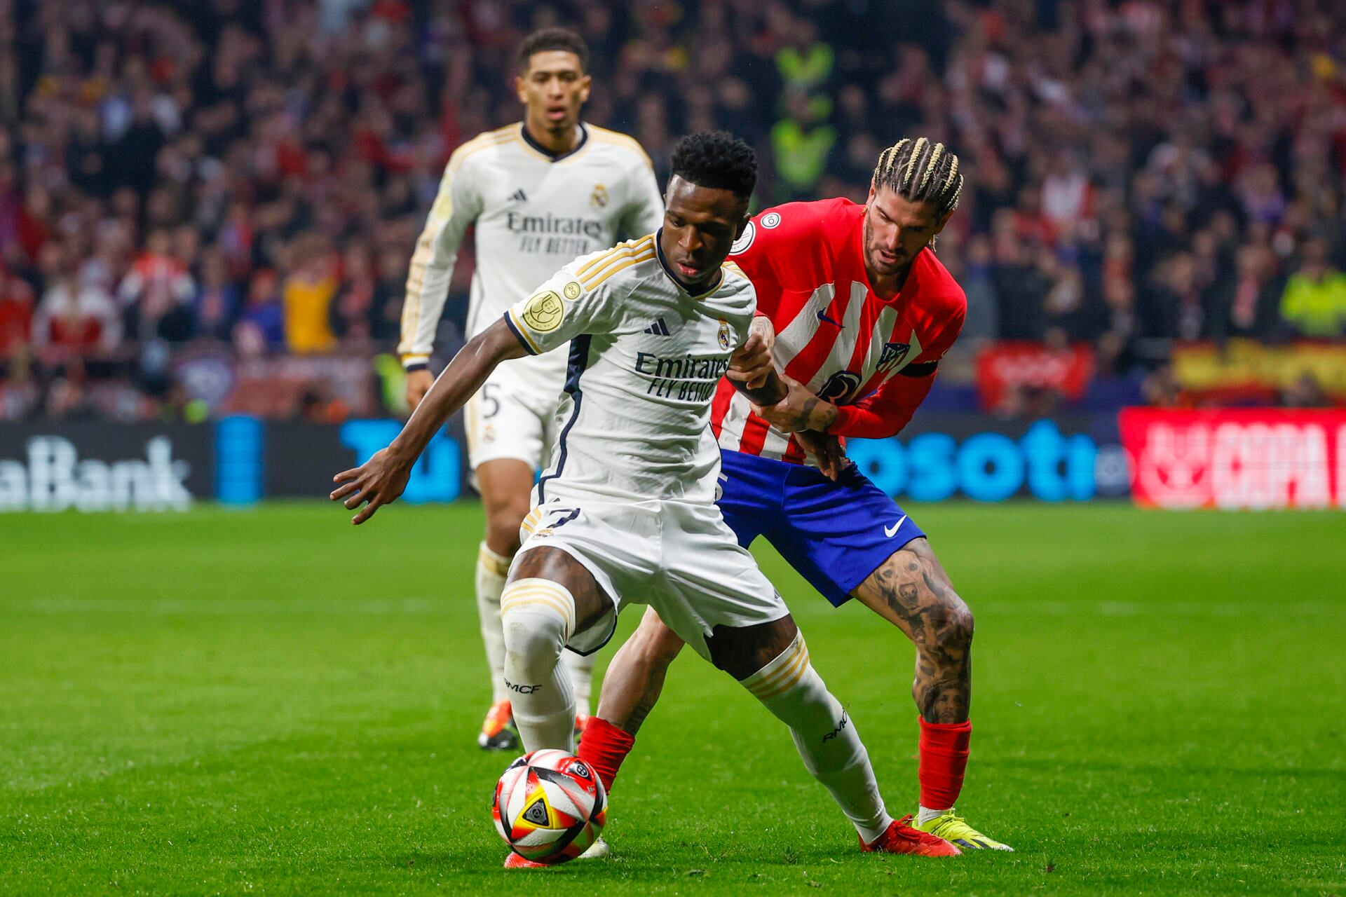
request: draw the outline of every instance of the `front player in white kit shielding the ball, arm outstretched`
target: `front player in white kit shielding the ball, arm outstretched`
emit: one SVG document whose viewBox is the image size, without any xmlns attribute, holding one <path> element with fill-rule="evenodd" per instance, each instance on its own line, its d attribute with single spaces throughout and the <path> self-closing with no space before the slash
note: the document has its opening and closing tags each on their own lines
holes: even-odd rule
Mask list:
<svg viewBox="0 0 1346 897">
<path fill-rule="evenodd" d="M 748 386 L 756 375 L 742 383 L 758 405 L 786 394 L 769 355 L 750 358 L 760 350 L 748 340 L 756 296 L 725 262 L 755 182 L 747 144 L 723 133 L 685 137 L 673 153 L 664 226 L 565 265 L 468 342 L 401 434 L 334 477 L 331 499 L 367 503 L 353 518 L 363 523 L 401 495 L 429 438 L 497 364 L 569 343 L 565 424 L 501 600 L 505 680 L 524 748 L 572 749 L 563 648 L 599 647 L 625 604 L 649 604 L 790 728 L 861 849 L 887 853 L 898 826 L 855 725 L 715 506 L 720 457 L 709 403 L 731 358 L 766 378 L 758 389 Z M 522 865 L 517 854 L 506 859 Z"/>
</svg>

